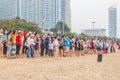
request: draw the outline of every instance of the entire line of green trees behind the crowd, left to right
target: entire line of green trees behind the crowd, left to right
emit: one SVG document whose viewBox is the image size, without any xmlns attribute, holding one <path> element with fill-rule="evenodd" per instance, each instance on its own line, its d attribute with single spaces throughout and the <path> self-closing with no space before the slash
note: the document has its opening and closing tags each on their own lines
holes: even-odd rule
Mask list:
<svg viewBox="0 0 120 80">
<path fill-rule="evenodd" d="M 42 33 L 42 29 L 38 26 L 36 23 L 27 22 L 24 19 L 20 19 L 19 17 L 12 18 L 12 19 L 1 19 L 0 20 L 0 27 L 4 30 L 23 30 L 23 31 L 32 31 L 32 32 L 38 32 Z M 88 39 L 110 39 L 115 42 L 120 43 L 120 39 L 118 38 L 109 38 L 107 36 L 90 36 L 88 34 L 77 34 L 75 32 L 71 32 L 71 28 L 63 21 L 58 21 L 55 25 L 55 27 L 51 28 L 50 31 L 52 31 L 55 34 L 63 34 L 63 28 L 64 28 L 64 35 L 68 36 L 76 36 L 78 38 L 88 38 Z"/>
</svg>

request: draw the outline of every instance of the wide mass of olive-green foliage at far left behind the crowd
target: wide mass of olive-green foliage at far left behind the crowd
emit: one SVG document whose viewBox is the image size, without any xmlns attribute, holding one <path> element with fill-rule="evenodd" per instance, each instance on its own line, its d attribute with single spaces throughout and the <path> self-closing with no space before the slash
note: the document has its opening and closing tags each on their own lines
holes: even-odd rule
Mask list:
<svg viewBox="0 0 120 80">
<path fill-rule="evenodd" d="M 36 31 L 42 33 L 42 30 L 35 23 L 27 22 L 19 17 L 13 19 L 0 20 L 0 27 L 7 30 L 24 30 L 24 31 Z"/>
</svg>

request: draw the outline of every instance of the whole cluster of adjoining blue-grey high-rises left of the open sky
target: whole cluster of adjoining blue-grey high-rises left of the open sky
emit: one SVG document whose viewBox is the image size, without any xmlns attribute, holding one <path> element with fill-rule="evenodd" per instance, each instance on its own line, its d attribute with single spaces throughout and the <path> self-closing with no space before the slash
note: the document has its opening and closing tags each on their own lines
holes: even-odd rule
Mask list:
<svg viewBox="0 0 120 80">
<path fill-rule="evenodd" d="M 43 29 L 55 27 L 58 21 L 71 26 L 70 0 L 0 0 L 0 10 L 1 19 L 18 16 Z"/>
</svg>

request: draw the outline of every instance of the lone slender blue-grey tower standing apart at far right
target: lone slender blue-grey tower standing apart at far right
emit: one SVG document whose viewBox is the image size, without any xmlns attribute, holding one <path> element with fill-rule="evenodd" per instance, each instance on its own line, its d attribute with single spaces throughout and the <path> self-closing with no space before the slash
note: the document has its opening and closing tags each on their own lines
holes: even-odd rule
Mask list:
<svg viewBox="0 0 120 80">
<path fill-rule="evenodd" d="M 117 8 L 109 8 L 109 37 L 117 37 Z"/>
</svg>

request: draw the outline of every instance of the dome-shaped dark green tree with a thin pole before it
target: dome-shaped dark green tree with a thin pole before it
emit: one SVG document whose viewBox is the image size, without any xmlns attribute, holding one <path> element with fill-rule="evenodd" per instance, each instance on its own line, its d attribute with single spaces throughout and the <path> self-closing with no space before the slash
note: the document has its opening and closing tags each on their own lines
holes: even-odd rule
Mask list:
<svg viewBox="0 0 120 80">
<path fill-rule="evenodd" d="M 51 31 L 54 33 L 63 33 L 63 26 L 64 26 L 64 33 L 70 32 L 70 27 L 63 21 L 58 21 L 54 28 L 51 28 Z"/>
</svg>

